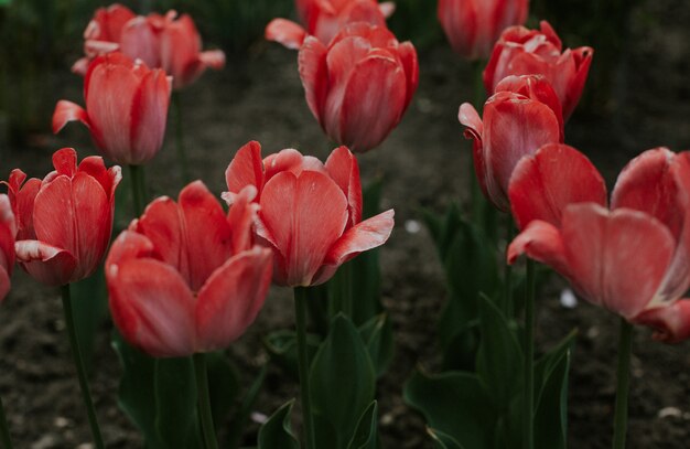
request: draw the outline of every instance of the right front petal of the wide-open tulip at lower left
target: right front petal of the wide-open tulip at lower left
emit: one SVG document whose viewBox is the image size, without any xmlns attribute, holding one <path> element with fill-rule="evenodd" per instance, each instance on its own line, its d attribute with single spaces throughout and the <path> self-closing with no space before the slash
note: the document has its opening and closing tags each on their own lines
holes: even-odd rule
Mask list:
<svg viewBox="0 0 690 449">
<path fill-rule="evenodd" d="M 239 338 L 263 306 L 271 252 L 256 247 L 228 259 L 198 292 L 197 351 L 220 350 Z"/>
</svg>

